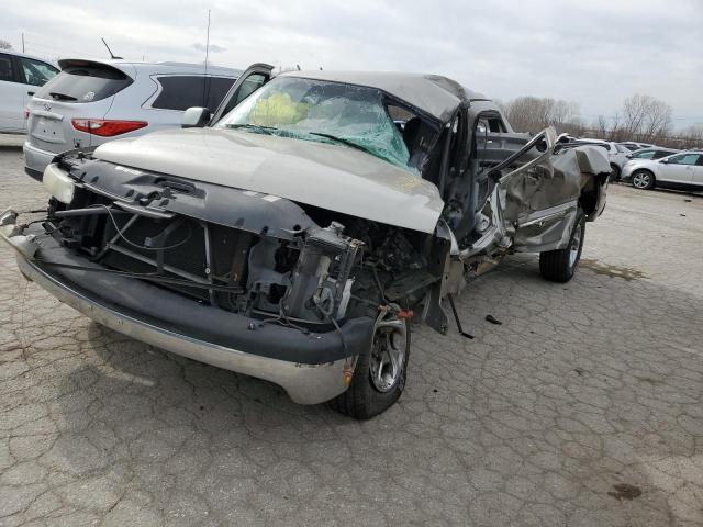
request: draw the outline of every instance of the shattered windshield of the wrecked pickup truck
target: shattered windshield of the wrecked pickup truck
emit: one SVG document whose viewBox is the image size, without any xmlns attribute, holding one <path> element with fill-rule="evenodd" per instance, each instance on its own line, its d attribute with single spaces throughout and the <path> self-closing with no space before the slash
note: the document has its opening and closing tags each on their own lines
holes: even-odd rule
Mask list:
<svg viewBox="0 0 703 527">
<path fill-rule="evenodd" d="M 342 144 L 409 168 L 408 147 L 383 99 L 375 88 L 279 77 L 216 126 Z"/>
</svg>

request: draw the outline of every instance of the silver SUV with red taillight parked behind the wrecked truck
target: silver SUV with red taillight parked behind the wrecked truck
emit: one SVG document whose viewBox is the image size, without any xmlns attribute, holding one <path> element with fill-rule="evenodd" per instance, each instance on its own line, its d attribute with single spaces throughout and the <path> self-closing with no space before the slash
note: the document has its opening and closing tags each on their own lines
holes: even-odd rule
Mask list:
<svg viewBox="0 0 703 527">
<path fill-rule="evenodd" d="M 178 127 L 193 105 L 216 108 L 241 70 L 179 63 L 62 59 L 27 104 L 25 171 L 41 179 L 59 153 Z"/>
</svg>

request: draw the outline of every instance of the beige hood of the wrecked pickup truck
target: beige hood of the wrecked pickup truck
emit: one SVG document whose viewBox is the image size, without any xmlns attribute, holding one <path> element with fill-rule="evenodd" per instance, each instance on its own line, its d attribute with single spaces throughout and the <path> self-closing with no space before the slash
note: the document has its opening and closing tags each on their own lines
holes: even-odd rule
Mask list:
<svg viewBox="0 0 703 527">
<path fill-rule="evenodd" d="M 444 208 L 433 183 L 342 145 L 188 128 L 105 143 L 93 156 L 425 233 L 434 232 Z"/>
</svg>

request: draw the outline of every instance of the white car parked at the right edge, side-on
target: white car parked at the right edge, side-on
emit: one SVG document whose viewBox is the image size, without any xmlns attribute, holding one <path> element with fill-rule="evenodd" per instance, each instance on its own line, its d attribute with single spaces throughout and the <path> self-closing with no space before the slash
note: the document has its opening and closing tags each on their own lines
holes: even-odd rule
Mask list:
<svg viewBox="0 0 703 527">
<path fill-rule="evenodd" d="M 640 190 L 703 189 L 703 152 L 682 152 L 661 159 L 633 159 L 625 165 L 623 181 L 631 181 Z"/>
</svg>

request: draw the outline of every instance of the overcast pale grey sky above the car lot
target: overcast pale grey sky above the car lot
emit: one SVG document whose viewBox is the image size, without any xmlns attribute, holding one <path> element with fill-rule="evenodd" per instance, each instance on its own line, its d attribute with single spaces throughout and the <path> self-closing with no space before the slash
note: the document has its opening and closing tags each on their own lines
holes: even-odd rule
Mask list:
<svg viewBox="0 0 703 527">
<path fill-rule="evenodd" d="M 442 74 L 494 99 L 613 115 L 647 93 L 703 124 L 703 0 L 8 0 L 0 38 L 41 56 Z M 344 4 L 343 4 L 344 3 Z"/>
</svg>

